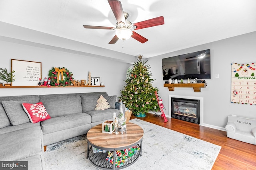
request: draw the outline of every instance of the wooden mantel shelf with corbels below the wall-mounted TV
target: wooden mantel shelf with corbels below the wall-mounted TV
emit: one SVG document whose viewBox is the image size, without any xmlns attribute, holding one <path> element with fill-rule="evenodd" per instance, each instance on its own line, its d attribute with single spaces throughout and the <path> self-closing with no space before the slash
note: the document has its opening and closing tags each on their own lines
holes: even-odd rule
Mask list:
<svg viewBox="0 0 256 170">
<path fill-rule="evenodd" d="M 194 92 L 201 92 L 201 88 L 206 87 L 206 83 L 178 83 L 178 84 L 164 84 L 169 91 L 174 91 L 174 87 L 192 87 Z"/>
</svg>

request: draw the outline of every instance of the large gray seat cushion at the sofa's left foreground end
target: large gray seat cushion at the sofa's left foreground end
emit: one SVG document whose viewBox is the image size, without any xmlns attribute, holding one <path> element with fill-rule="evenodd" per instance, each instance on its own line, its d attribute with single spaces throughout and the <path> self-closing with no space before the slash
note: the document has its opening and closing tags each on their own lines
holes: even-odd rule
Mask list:
<svg viewBox="0 0 256 170">
<path fill-rule="evenodd" d="M 21 160 L 43 150 L 40 126 L 5 133 L 0 139 L 0 160 Z"/>
</svg>

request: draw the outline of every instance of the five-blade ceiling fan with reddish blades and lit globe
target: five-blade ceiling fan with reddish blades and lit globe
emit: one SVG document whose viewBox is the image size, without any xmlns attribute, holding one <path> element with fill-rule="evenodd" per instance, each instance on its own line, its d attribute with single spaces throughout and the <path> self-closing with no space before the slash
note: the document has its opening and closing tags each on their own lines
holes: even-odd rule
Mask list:
<svg viewBox="0 0 256 170">
<path fill-rule="evenodd" d="M 145 37 L 142 37 L 140 34 L 136 33 L 134 30 L 154 27 L 157 25 L 164 24 L 164 17 L 160 16 L 157 18 L 152 18 L 150 20 L 145 20 L 137 23 L 131 23 L 126 20 L 129 16 L 127 12 L 123 11 L 122 4 L 118 0 L 108 0 L 108 3 L 116 17 L 117 23 L 116 27 L 103 27 L 103 26 L 92 26 L 92 25 L 84 25 L 84 28 L 89 29 L 111 29 L 116 31 L 116 35 L 109 42 L 109 44 L 114 44 L 118 39 L 122 39 L 123 41 L 129 39 L 130 37 L 140 41 L 141 43 L 145 43 L 148 41 Z"/>
</svg>

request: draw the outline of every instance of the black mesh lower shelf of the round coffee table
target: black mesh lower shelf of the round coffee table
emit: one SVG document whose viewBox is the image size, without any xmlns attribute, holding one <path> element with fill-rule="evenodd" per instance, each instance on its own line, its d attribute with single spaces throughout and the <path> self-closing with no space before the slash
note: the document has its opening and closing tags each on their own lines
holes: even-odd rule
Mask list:
<svg viewBox="0 0 256 170">
<path fill-rule="evenodd" d="M 140 147 L 139 144 L 137 146 Z M 141 156 L 140 151 L 141 151 L 140 149 L 137 150 L 136 153 L 134 153 L 134 155 L 132 155 L 132 157 L 128 158 L 126 160 L 126 162 L 124 162 L 124 164 L 121 167 L 118 168 L 117 166 L 115 166 L 114 169 L 123 169 L 123 168 L 126 168 L 126 167 L 132 165 Z M 100 168 L 103 170 L 113 169 L 114 165 L 106 160 L 107 156 L 108 156 L 108 152 L 94 153 L 92 151 L 92 147 L 90 147 L 90 149 L 89 149 L 88 158 L 89 158 L 90 162 L 92 164 L 94 164 L 94 166 L 96 166 L 97 168 Z"/>
</svg>

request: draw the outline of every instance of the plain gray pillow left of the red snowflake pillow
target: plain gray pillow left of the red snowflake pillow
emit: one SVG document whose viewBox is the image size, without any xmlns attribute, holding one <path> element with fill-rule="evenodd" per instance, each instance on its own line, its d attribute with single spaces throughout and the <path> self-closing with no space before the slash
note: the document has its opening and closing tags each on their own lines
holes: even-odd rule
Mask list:
<svg viewBox="0 0 256 170">
<path fill-rule="evenodd" d="M 21 101 L 2 101 L 2 105 L 12 125 L 20 125 L 29 122 L 28 115 L 22 107 Z"/>
</svg>

